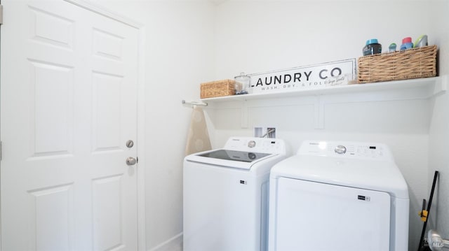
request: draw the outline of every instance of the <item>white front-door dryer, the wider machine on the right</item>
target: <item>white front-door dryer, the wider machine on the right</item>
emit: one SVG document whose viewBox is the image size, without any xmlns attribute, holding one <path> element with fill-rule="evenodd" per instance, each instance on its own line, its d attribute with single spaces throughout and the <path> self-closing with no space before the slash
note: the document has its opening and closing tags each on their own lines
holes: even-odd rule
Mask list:
<svg viewBox="0 0 449 251">
<path fill-rule="evenodd" d="M 406 251 L 408 204 L 387 145 L 306 141 L 272 168 L 269 250 Z"/>
</svg>

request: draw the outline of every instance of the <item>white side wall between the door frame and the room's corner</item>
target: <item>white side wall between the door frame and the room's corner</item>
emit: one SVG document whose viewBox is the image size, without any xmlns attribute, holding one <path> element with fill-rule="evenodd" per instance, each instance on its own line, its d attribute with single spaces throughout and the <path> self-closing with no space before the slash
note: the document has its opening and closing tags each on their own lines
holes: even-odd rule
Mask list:
<svg viewBox="0 0 449 251">
<path fill-rule="evenodd" d="M 214 5 L 139 0 L 98 4 L 144 25 L 146 135 L 145 156 L 139 159 L 146 164 L 146 245 L 147 250 L 166 250 L 166 241 L 182 239 L 182 160 L 192 109 L 181 100 L 199 98 L 199 83 L 214 79 Z"/>
</svg>

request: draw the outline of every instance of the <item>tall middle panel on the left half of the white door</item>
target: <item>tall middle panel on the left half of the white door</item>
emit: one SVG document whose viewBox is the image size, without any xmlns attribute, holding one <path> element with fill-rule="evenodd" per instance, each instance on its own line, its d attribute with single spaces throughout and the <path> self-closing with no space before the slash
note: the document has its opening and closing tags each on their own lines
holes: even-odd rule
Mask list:
<svg viewBox="0 0 449 251">
<path fill-rule="evenodd" d="M 29 117 L 32 118 L 32 157 L 67 155 L 73 152 L 72 67 L 48 62 L 30 64 Z M 58 106 L 55 104 L 58 103 Z"/>
</svg>

